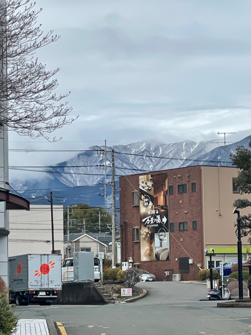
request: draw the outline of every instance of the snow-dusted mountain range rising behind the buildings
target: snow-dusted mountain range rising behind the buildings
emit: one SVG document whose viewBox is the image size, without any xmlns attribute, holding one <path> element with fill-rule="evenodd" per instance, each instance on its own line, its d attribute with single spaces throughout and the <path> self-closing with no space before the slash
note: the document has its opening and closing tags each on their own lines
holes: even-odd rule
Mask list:
<svg viewBox="0 0 251 335">
<path fill-rule="evenodd" d="M 226 160 L 230 161 L 229 154 L 234 152 L 237 145 L 248 147 L 249 139 L 247 137 L 240 142 L 227 145 Z M 104 165 L 106 160 L 107 181 L 109 181 L 111 179 L 112 149 L 115 151 L 115 175 L 118 180 L 119 175 L 173 169 L 188 165 L 223 165 L 225 164 L 224 146 L 219 147 L 215 142 L 217 140 L 199 143 L 186 140 L 166 144 L 149 139 L 128 145 L 107 147 L 106 156 L 102 151 L 105 149 L 104 146 L 91 146 L 88 151 L 51 167 L 47 179 L 13 180 L 11 185 L 16 190 L 23 190 L 19 193 L 28 198 L 46 195 L 49 193 L 46 189 L 50 189 L 55 190 L 56 198 L 58 197 L 58 200 L 65 204 L 69 201 L 70 203 L 81 201 L 91 202 L 91 205 L 97 206 L 104 203 L 102 197 L 104 186 L 97 185 L 104 183 L 104 170 L 99 165 Z M 227 163 L 227 165 L 232 165 L 232 163 Z M 109 185 L 107 194 L 110 195 Z"/>
</svg>

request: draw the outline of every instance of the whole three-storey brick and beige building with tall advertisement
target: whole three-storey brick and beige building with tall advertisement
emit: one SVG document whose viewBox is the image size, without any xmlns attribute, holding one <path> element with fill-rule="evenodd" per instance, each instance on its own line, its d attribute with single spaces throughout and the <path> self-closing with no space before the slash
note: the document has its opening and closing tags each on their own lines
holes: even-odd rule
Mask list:
<svg viewBox="0 0 251 335">
<path fill-rule="evenodd" d="M 199 266 L 208 268 L 204 248 L 217 254 L 214 266 L 237 259 L 233 202 L 251 200 L 238 194 L 237 175 L 235 167 L 203 165 L 120 177 L 121 261 L 131 257 L 162 281 L 198 279 Z M 242 243 L 248 259 L 247 238 Z"/>
</svg>

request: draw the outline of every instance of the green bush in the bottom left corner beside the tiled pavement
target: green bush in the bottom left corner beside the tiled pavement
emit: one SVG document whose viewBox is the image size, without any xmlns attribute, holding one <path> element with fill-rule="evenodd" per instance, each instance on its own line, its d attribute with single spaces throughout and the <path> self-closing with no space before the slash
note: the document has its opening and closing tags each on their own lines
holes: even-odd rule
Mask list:
<svg viewBox="0 0 251 335">
<path fill-rule="evenodd" d="M 0 335 L 11 335 L 17 326 L 18 317 L 9 305 L 5 293 L 0 293 Z"/>
</svg>

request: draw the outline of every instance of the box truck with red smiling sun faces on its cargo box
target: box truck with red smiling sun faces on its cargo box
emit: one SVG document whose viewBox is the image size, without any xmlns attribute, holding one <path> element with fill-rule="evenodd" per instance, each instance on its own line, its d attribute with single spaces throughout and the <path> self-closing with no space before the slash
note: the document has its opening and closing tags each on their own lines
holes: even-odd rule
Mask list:
<svg viewBox="0 0 251 335">
<path fill-rule="evenodd" d="M 9 300 L 17 306 L 49 306 L 62 289 L 62 255 L 26 254 L 9 257 Z"/>
</svg>

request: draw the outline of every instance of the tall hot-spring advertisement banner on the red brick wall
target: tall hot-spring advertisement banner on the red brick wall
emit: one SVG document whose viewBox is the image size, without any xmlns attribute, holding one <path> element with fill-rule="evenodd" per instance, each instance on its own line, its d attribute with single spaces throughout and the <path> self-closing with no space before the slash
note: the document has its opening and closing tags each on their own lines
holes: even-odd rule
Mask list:
<svg viewBox="0 0 251 335">
<path fill-rule="evenodd" d="M 170 259 L 167 177 L 139 177 L 141 261 Z"/>
</svg>

